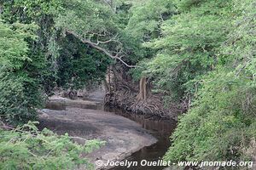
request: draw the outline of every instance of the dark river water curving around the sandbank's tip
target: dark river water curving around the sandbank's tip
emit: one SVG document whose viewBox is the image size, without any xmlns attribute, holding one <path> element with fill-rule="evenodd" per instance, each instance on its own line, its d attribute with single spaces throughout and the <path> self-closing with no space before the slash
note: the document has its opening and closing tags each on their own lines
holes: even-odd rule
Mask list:
<svg viewBox="0 0 256 170">
<path fill-rule="evenodd" d="M 65 110 L 66 105 L 63 102 L 50 102 L 46 105 L 47 109 L 51 110 Z M 99 105 L 96 108 L 88 108 L 88 105 L 73 105 L 75 107 L 83 108 L 83 109 L 97 109 L 102 110 L 102 106 Z M 170 146 L 170 135 L 172 134 L 174 128 L 176 127 L 176 122 L 172 120 L 160 119 L 159 117 L 152 117 L 152 116 L 143 116 L 137 115 L 134 113 L 120 111 L 114 108 L 104 108 L 105 111 L 112 112 L 119 116 L 125 116 L 126 118 L 131 119 L 134 122 L 137 122 L 143 126 L 143 128 L 147 129 L 155 138 L 158 139 L 156 144 L 143 147 L 143 149 L 138 150 L 137 152 L 133 153 L 131 156 L 125 158 L 127 161 L 137 161 L 138 166 L 136 167 L 112 167 L 111 170 L 162 170 L 165 167 L 142 167 L 140 166 L 140 161 L 147 160 L 147 161 L 158 161 L 165 155 L 168 147 Z M 62 126 L 62 128 L 65 128 Z M 125 161 L 123 160 L 123 161 Z"/>
</svg>

